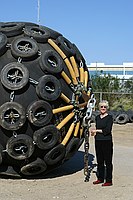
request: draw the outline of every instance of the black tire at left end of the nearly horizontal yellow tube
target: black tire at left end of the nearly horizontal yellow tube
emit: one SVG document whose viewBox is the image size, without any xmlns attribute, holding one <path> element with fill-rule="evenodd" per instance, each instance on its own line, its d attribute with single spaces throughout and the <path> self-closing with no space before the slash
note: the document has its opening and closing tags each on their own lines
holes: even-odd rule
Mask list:
<svg viewBox="0 0 133 200">
<path fill-rule="evenodd" d="M 28 119 L 34 126 L 45 126 L 52 117 L 51 105 L 43 100 L 34 101 L 27 108 Z"/>
</svg>

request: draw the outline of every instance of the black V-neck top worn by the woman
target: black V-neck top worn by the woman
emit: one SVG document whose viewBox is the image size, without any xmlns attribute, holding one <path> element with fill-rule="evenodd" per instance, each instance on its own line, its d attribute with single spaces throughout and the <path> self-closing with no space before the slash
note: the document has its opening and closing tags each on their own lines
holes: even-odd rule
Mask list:
<svg viewBox="0 0 133 200">
<path fill-rule="evenodd" d="M 98 133 L 95 136 L 96 140 L 112 140 L 112 126 L 113 118 L 111 115 L 107 115 L 103 118 L 100 115 L 96 116 L 96 129 L 102 129 L 102 133 Z"/>
</svg>

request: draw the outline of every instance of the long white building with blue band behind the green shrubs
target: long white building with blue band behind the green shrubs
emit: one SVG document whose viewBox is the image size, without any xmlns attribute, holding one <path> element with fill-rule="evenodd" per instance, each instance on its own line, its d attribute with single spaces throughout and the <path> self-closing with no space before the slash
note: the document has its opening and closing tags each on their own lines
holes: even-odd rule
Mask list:
<svg viewBox="0 0 133 200">
<path fill-rule="evenodd" d="M 133 77 L 133 62 L 123 63 L 122 65 L 105 65 L 104 63 L 90 63 L 87 65 L 90 75 L 96 73 L 110 74 L 120 79 Z"/>
</svg>

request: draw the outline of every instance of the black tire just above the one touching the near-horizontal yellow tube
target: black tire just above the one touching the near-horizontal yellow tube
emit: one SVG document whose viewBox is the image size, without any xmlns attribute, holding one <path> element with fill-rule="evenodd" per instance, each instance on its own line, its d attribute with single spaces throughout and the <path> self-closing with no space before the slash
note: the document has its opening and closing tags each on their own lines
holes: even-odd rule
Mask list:
<svg viewBox="0 0 133 200">
<path fill-rule="evenodd" d="M 44 100 L 55 101 L 61 94 L 60 82 L 53 75 L 42 76 L 36 86 L 36 92 Z"/>
</svg>

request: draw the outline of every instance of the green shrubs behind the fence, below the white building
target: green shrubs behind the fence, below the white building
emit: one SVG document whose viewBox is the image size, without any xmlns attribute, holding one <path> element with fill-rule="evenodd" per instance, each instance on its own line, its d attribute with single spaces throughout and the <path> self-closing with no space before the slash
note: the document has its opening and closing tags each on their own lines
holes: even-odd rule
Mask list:
<svg viewBox="0 0 133 200">
<path fill-rule="evenodd" d="M 91 76 L 91 85 L 97 105 L 102 98 L 109 101 L 110 109 L 133 110 L 133 77 L 120 79 L 101 71 Z"/>
</svg>

